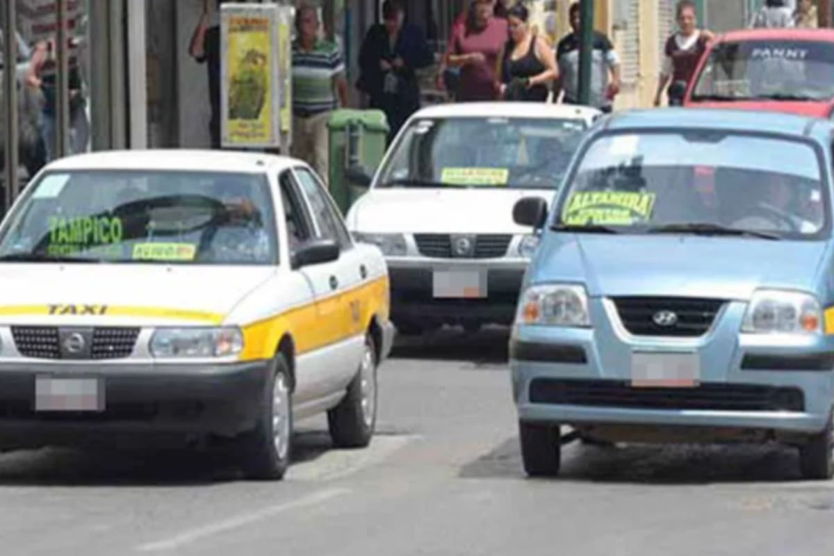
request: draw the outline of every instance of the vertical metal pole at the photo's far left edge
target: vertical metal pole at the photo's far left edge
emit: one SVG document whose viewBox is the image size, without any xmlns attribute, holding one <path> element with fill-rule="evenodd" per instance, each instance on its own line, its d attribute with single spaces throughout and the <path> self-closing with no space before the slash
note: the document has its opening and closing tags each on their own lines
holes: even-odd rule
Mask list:
<svg viewBox="0 0 834 556">
<path fill-rule="evenodd" d="M 18 29 L 15 3 L 3 3 L 3 110 L 6 115 L 4 209 L 18 193 Z"/>
</svg>

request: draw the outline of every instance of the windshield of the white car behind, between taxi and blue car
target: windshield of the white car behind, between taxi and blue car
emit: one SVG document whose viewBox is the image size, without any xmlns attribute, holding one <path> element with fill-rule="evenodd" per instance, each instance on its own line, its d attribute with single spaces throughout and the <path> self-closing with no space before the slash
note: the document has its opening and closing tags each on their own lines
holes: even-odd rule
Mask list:
<svg viewBox="0 0 834 556">
<path fill-rule="evenodd" d="M 394 146 L 379 187 L 555 189 L 585 128 L 580 119 L 421 119 Z"/>
</svg>

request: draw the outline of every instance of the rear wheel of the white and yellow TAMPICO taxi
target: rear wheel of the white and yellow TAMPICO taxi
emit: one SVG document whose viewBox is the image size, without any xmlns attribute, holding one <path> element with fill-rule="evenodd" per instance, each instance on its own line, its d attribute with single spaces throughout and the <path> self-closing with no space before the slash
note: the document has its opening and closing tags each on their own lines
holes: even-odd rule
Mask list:
<svg viewBox="0 0 834 556">
<path fill-rule="evenodd" d="M 364 448 L 376 428 L 377 408 L 376 343 L 365 335 L 362 360 L 342 401 L 327 413 L 330 438 L 337 448 Z"/>
</svg>

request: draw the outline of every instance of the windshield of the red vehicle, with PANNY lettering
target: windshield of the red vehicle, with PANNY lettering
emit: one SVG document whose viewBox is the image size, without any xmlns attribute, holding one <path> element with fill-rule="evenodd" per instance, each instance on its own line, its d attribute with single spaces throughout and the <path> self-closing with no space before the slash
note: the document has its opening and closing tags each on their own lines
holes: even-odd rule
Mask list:
<svg viewBox="0 0 834 556">
<path fill-rule="evenodd" d="M 834 44 L 779 40 L 717 44 L 692 93 L 693 100 L 832 97 Z"/>
</svg>

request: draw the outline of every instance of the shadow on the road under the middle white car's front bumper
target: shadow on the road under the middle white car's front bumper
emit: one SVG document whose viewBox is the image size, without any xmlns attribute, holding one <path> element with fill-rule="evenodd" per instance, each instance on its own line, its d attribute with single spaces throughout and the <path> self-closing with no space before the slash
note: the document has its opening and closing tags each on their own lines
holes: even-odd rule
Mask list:
<svg viewBox="0 0 834 556">
<path fill-rule="evenodd" d="M 461 328 L 441 328 L 422 336 L 399 335 L 391 357 L 505 364 L 509 338 L 509 328 L 485 328 L 474 334 Z"/>
</svg>

